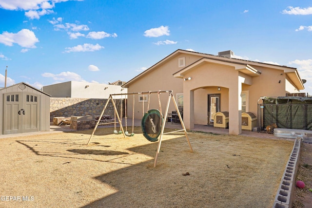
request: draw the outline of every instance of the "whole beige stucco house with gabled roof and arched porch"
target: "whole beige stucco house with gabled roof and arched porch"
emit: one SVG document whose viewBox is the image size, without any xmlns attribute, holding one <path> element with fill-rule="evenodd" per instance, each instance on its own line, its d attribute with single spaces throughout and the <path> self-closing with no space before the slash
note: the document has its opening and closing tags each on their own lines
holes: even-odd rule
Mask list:
<svg viewBox="0 0 312 208">
<path fill-rule="evenodd" d="M 186 129 L 193 129 L 194 124 L 213 125 L 216 112 L 229 112 L 229 133 L 234 135 L 242 131 L 243 112 L 257 115 L 260 97 L 285 96 L 304 89 L 296 68 L 237 59 L 232 51 L 216 56 L 180 49 L 122 87 L 128 88 L 128 93 L 173 90 Z M 128 114 L 132 115 L 133 98 L 128 99 Z M 162 108 L 166 100 L 161 97 Z M 158 108 L 156 97 L 150 102 L 150 108 Z M 135 118 L 141 118 L 141 106 L 135 102 Z M 169 111 L 174 110 L 171 105 Z"/>
</svg>

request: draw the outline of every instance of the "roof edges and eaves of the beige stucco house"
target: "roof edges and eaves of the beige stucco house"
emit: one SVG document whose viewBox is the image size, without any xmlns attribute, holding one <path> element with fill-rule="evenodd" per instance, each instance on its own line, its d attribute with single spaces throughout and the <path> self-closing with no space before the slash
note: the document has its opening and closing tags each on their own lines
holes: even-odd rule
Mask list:
<svg viewBox="0 0 312 208">
<path fill-rule="evenodd" d="M 156 64 L 145 70 L 144 72 L 140 73 L 139 75 L 135 76 L 128 82 L 126 82 L 122 87 L 129 87 L 132 83 L 137 81 L 140 77 L 150 73 L 153 71 L 157 66 L 162 65 L 164 62 L 176 57 L 179 54 L 191 54 L 191 55 L 197 55 L 197 56 L 202 56 L 199 60 L 195 61 L 194 63 L 190 64 L 189 66 L 186 66 L 185 68 L 177 71 L 173 76 L 183 78 L 183 73 L 189 70 L 190 68 L 194 67 L 195 65 L 202 64 L 205 62 L 214 62 L 218 64 L 225 64 L 225 65 L 231 65 L 234 66 L 236 70 L 241 71 L 244 74 L 247 74 L 249 76 L 259 76 L 261 74 L 260 71 L 255 69 L 255 66 L 259 67 L 269 67 L 277 70 L 282 70 L 294 83 L 295 87 L 298 90 L 303 90 L 303 82 L 298 74 L 298 71 L 296 68 L 288 67 L 288 66 L 280 66 L 280 65 L 275 65 L 275 64 L 269 64 L 269 63 L 261 63 L 257 61 L 250 61 L 250 60 L 243 60 L 243 59 L 238 59 L 238 58 L 229 58 L 229 57 L 221 57 L 221 56 L 216 56 L 216 55 L 211 55 L 211 54 L 204 54 L 204 53 L 199 53 L 199 52 L 193 52 L 193 51 L 186 51 L 186 50 L 181 50 L 178 49 L 169 56 L 163 58 L 162 60 L 158 61 Z M 253 65 L 253 66 L 251 66 Z"/>
</svg>

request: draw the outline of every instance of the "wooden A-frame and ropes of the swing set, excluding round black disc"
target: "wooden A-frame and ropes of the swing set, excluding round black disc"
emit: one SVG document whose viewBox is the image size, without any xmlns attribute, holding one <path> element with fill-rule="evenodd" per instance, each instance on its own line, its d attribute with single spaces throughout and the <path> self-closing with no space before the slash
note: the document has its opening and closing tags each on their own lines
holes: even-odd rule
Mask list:
<svg viewBox="0 0 312 208">
<path fill-rule="evenodd" d="M 160 97 L 159 97 L 159 95 L 160 95 L 161 93 L 168 93 L 168 95 L 169 95 L 169 96 L 168 96 L 168 101 L 167 101 L 167 106 L 166 106 L 166 111 L 165 111 L 165 113 L 164 113 L 164 116 L 163 116 L 163 114 L 161 113 L 161 105 L 160 105 Z M 89 145 L 89 143 L 90 143 L 90 141 L 91 141 L 91 139 L 92 139 L 92 136 L 93 136 L 94 133 L 96 132 L 96 130 L 97 130 L 97 128 L 98 128 L 98 125 L 99 125 L 99 123 L 100 123 L 100 119 L 101 119 L 101 117 L 103 116 L 104 111 L 105 111 L 105 109 L 107 108 L 108 103 L 109 103 L 110 101 L 113 103 L 114 111 L 115 111 L 115 114 L 116 114 L 116 116 L 117 116 L 117 120 L 118 120 L 120 129 L 121 129 L 121 132 L 122 132 L 124 138 L 126 138 L 126 135 L 128 135 L 128 136 L 133 136 L 133 135 L 134 135 L 133 133 L 131 133 L 131 135 L 129 135 L 128 132 L 125 132 L 125 131 L 124 131 L 123 126 L 122 126 L 121 119 L 120 119 L 119 114 L 118 114 L 118 111 L 117 111 L 116 103 L 115 103 L 115 101 L 114 101 L 114 99 L 113 99 L 113 96 L 117 96 L 117 95 L 134 95 L 134 96 L 135 96 L 135 95 L 149 95 L 149 97 L 150 97 L 151 94 L 158 94 L 159 109 L 160 109 L 160 114 L 161 114 L 161 117 L 162 117 L 162 119 L 161 119 L 162 122 L 161 122 L 161 124 L 160 124 L 160 126 L 161 126 L 161 132 L 160 132 L 160 134 L 159 134 L 159 135 L 160 135 L 160 138 L 159 138 L 159 140 L 158 140 L 158 147 L 157 147 L 156 156 L 155 156 L 154 168 L 156 167 L 156 164 L 157 164 L 157 158 L 158 158 L 158 154 L 159 154 L 159 152 L 160 152 L 161 141 L 162 141 L 163 135 L 165 135 L 165 134 L 174 133 L 174 132 L 184 132 L 185 137 L 186 137 L 186 139 L 187 139 L 187 141 L 188 141 L 189 147 L 190 147 L 190 149 L 191 149 L 191 152 L 193 152 L 193 149 L 192 149 L 192 146 L 191 146 L 191 143 L 190 143 L 190 139 L 189 139 L 188 133 L 187 133 L 186 128 L 185 128 L 185 126 L 184 126 L 184 123 L 183 123 L 183 120 L 182 120 L 182 116 L 181 116 L 181 114 L 180 114 L 180 112 L 179 112 L 179 110 L 178 110 L 178 106 L 177 106 L 177 104 L 176 104 L 176 99 L 175 99 L 175 97 L 174 97 L 174 95 L 173 95 L 173 91 L 172 91 L 172 90 L 167 90 L 167 91 L 160 91 L 160 90 L 158 90 L 158 91 L 137 92 L 137 93 L 124 93 L 124 94 L 111 94 L 111 95 L 109 95 L 109 98 L 107 99 L 107 101 L 106 101 L 106 103 L 105 103 L 105 105 L 104 105 L 104 108 L 103 108 L 103 110 L 102 110 L 102 112 L 101 112 L 101 114 L 100 114 L 100 116 L 99 116 L 99 118 L 98 118 L 98 121 L 97 121 L 97 123 L 96 123 L 96 126 L 94 127 L 94 130 L 93 130 L 93 132 L 92 132 L 92 134 L 91 134 L 91 136 L 90 136 L 90 139 L 89 139 L 87 145 Z M 169 110 L 169 106 L 170 106 L 170 100 L 172 100 L 173 103 L 174 103 L 174 105 L 175 105 L 177 115 L 178 115 L 178 117 L 179 117 L 179 119 L 180 119 L 180 122 L 181 122 L 181 125 L 182 125 L 182 129 L 180 129 L 180 130 L 175 130 L 175 131 L 172 131 L 172 132 L 164 132 L 164 130 L 165 130 L 165 125 L 166 125 L 166 120 L 167 120 L 167 115 L 168 115 L 168 110 Z M 133 99 L 133 102 L 135 102 L 135 99 Z M 150 102 L 150 99 L 148 99 L 148 106 L 149 106 L 149 102 Z M 143 104 L 144 104 L 144 103 L 143 103 Z M 134 108 L 134 104 L 133 104 L 133 108 Z M 133 112 L 134 112 L 134 111 L 133 111 Z M 115 117 L 115 119 L 116 119 L 116 117 Z M 127 119 L 127 118 L 126 118 L 126 119 Z M 132 118 L 132 119 L 134 119 L 134 114 L 133 114 L 133 118 Z M 164 121 L 164 122 L 163 122 L 163 121 Z M 116 124 L 116 122 L 115 122 L 115 124 Z M 134 125 L 133 125 L 133 126 L 134 126 Z M 142 130 L 143 130 L 143 128 L 142 128 Z M 144 131 L 144 130 L 143 130 L 143 131 Z M 150 141 L 151 141 L 151 140 L 150 140 Z"/>
</svg>

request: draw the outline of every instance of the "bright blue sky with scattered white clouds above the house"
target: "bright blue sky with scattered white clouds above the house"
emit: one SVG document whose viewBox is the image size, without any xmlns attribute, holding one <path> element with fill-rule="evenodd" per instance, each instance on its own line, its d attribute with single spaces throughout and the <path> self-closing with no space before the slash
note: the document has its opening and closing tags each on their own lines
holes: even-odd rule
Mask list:
<svg viewBox="0 0 312 208">
<path fill-rule="evenodd" d="M 312 1 L 0 0 L 0 87 L 129 81 L 177 49 L 297 68 L 312 95 Z"/>
</svg>

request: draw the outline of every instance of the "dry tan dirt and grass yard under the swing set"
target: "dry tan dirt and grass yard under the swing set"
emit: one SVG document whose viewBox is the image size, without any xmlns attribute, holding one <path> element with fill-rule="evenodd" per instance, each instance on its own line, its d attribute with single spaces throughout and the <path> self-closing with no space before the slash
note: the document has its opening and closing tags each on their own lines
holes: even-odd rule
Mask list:
<svg viewBox="0 0 312 208">
<path fill-rule="evenodd" d="M 171 130 L 172 131 L 172 130 Z M 293 142 L 189 132 L 158 142 L 112 128 L 2 138 L 1 208 L 272 208 Z M 141 132 L 136 128 L 135 132 Z"/>
</svg>

